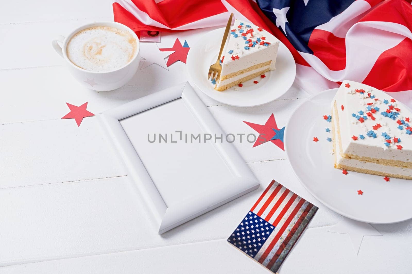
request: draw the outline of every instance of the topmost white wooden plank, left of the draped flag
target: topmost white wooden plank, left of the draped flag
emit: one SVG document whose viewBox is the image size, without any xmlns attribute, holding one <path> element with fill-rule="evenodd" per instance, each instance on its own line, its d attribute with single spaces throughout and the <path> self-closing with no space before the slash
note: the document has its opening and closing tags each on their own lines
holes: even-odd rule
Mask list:
<svg viewBox="0 0 412 274">
<path fill-rule="evenodd" d="M 82 1 L 5 1 L 0 9 L 0 23 L 68 20 L 73 18 L 113 17 L 112 0 Z"/>
</svg>

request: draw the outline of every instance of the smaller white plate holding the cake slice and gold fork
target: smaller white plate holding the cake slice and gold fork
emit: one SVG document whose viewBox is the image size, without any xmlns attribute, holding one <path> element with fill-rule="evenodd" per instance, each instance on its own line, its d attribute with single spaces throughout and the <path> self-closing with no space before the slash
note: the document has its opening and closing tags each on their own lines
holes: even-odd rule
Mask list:
<svg viewBox="0 0 412 274">
<path fill-rule="evenodd" d="M 292 53 L 281 42 L 276 58 L 276 70 L 265 73 L 265 78 L 246 81 L 239 90 L 234 87 L 223 92 L 214 90 L 214 85 L 207 79 L 211 64 L 218 59 L 220 43 L 225 28 L 212 30 L 199 39 L 190 48 L 187 55 L 187 69 L 193 83 L 207 96 L 231 106 L 259 106 L 281 97 L 295 81 L 296 65 Z M 253 80 L 259 83 L 253 83 Z"/>
</svg>

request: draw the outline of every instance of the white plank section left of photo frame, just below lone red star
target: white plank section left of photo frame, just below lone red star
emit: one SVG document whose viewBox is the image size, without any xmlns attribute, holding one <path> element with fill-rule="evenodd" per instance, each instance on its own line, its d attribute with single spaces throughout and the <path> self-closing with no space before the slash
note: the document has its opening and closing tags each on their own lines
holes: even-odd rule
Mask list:
<svg viewBox="0 0 412 274">
<path fill-rule="evenodd" d="M 0 125 L 0 143 L 0 188 L 126 175 L 96 117 Z"/>
</svg>

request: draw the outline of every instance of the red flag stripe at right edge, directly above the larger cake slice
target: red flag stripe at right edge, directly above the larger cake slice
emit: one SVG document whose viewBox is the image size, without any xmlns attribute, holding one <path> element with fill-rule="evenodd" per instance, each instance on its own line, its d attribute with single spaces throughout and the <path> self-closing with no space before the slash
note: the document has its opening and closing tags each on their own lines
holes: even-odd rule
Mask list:
<svg viewBox="0 0 412 274">
<path fill-rule="evenodd" d="M 411 48 L 411 39 L 405 38 L 398 45 L 384 51 L 362 83 L 389 92 L 412 89 Z"/>
</svg>

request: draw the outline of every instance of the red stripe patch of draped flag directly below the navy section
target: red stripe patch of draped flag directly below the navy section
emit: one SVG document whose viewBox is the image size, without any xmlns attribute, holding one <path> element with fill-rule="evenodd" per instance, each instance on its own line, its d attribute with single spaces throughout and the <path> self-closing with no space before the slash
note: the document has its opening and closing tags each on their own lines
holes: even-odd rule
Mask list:
<svg viewBox="0 0 412 274">
<path fill-rule="evenodd" d="M 336 37 L 326 30 L 314 29 L 309 37 L 308 46 L 328 69 L 345 69 L 346 45 L 344 38 Z"/>
</svg>

